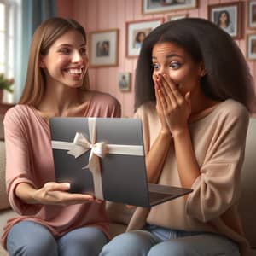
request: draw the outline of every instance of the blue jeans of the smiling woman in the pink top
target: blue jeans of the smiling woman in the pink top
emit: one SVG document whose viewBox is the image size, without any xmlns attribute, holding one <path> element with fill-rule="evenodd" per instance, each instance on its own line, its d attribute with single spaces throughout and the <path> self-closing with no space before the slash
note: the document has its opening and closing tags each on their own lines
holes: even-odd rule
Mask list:
<svg viewBox="0 0 256 256">
<path fill-rule="evenodd" d="M 21 221 L 9 231 L 7 250 L 10 256 L 96 256 L 107 242 L 95 227 L 72 230 L 56 239 L 43 225 Z"/>
</svg>

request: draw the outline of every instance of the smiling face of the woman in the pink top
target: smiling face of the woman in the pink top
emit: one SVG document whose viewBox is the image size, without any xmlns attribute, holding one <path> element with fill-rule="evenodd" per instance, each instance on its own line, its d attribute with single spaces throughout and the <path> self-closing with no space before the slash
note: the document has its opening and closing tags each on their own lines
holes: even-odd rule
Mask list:
<svg viewBox="0 0 256 256">
<path fill-rule="evenodd" d="M 82 34 L 75 30 L 64 33 L 50 46 L 47 55 L 41 55 L 40 67 L 44 68 L 47 85 L 80 87 L 88 67 Z"/>
</svg>

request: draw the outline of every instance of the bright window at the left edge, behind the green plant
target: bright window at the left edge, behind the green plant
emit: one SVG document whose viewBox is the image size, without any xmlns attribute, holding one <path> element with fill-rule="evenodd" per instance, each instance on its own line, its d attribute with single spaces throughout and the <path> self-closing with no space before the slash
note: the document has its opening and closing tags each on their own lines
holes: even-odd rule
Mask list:
<svg viewBox="0 0 256 256">
<path fill-rule="evenodd" d="M 14 78 L 20 0 L 0 0 L 0 73 Z M 4 91 L 4 102 L 13 102 L 13 95 Z"/>
</svg>

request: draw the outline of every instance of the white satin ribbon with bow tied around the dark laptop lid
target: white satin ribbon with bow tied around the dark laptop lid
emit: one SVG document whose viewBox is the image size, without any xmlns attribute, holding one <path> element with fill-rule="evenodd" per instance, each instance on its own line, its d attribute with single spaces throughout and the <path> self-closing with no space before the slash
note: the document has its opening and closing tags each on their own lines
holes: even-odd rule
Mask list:
<svg viewBox="0 0 256 256">
<path fill-rule="evenodd" d="M 89 163 L 84 168 L 89 168 L 92 172 L 96 198 L 103 200 L 102 172 L 99 157 L 103 158 L 106 154 L 144 155 L 143 146 L 96 143 L 96 118 L 88 118 L 88 128 L 90 142 L 82 133 L 77 132 L 73 143 L 51 141 L 51 146 L 54 149 L 68 150 L 67 154 L 71 154 L 75 158 L 90 150 Z"/>
</svg>

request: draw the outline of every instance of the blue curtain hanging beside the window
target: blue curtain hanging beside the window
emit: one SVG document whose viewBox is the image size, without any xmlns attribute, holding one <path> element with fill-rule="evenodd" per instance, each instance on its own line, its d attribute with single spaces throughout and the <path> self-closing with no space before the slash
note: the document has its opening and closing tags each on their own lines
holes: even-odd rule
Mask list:
<svg viewBox="0 0 256 256">
<path fill-rule="evenodd" d="M 17 46 L 14 101 L 18 102 L 26 82 L 30 42 L 35 29 L 56 15 L 55 0 L 21 0 L 20 46 Z M 18 28 L 19 29 L 19 28 Z"/>
</svg>

